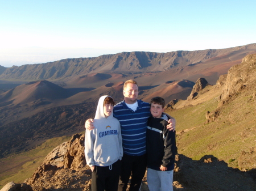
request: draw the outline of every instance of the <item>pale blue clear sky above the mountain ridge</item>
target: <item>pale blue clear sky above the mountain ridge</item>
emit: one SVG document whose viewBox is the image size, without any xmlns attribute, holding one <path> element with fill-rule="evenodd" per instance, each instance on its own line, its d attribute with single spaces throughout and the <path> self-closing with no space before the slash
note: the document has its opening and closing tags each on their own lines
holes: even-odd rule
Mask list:
<svg viewBox="0 0 256 191">
<path fill-rule="evenodd" d="M 256 1 L 2 1 L 0 65 L 256 43 Z"/>
</svg>

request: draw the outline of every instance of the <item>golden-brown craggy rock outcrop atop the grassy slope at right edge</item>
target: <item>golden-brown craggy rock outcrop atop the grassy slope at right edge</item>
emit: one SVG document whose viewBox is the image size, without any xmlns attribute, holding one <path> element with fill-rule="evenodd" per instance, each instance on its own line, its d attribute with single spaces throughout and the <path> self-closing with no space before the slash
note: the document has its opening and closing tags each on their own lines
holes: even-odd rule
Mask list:
<svg viewBox="0 0 256 191">
<path fill-rule="evenodd" d="M 228 105 L 228 103 L 234 100 L 242 92 L 245 92 L 245 96 L 250 97 L 247 101 L 253 103 L 256 95 L 255 84 L 256 54 L 249 54 L 243 58 L 240 64 L 231 67 L 228 74 L 221 75 L 217 80 L 216 88 L 222 89 L 222 93 L 218 97 L 218 108 L 213 112 L 207 112 L 205 114 L 205 117 L 207 118 L 205 124 L 215 121 L 221 114 L 221 111 L 223 110 L 222 107 Z"/>
</svg>

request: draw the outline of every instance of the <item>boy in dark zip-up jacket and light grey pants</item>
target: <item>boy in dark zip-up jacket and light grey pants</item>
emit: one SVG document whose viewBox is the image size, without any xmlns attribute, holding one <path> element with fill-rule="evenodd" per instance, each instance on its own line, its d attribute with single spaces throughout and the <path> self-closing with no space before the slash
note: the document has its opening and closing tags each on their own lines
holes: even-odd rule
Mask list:
<svg viewBox="0 0 256 191">
<path fill-rule="evenodd" d="M 163 114 L 165 101 L 153 97 L 147 124 L 147 184 L 150 191 L 171 191 L 177 152 L 175 131 L 166 128 L 169 118 Z"/>
</svg>

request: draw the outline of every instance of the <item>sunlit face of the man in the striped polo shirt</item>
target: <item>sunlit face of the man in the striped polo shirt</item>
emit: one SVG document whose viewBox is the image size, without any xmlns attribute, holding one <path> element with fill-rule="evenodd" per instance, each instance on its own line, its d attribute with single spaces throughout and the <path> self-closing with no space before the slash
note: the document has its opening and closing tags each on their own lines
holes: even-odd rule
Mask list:
<svg viewBox="0 0 256 191">
<path fill-rule="evenodd" d="M 123 89 L 123 95 L 125 96 L 125 103 L 134 104 L 139 95 L 138 86 L 134 83 L 128 83 Z"/>
</svg>

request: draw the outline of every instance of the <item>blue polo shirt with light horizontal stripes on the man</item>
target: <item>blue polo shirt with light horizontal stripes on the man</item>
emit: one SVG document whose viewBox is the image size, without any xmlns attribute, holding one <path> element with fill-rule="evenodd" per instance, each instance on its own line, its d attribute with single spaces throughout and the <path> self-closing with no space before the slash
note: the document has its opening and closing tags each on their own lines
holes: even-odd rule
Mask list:
<svg viewBox="0 0 256 191">
<path fill-rule="evenodd" d="M 121 124 L 123 153 L 140 156 L 146 154 L 147 120 L 151 116 L 150 104 L 137 100 L 138 108 L 134 112 L 125 101 L 114 106 L 114 117 Z"/>
</svg>

